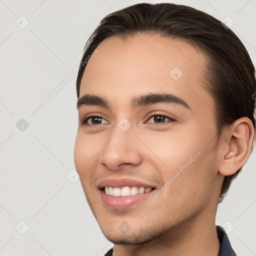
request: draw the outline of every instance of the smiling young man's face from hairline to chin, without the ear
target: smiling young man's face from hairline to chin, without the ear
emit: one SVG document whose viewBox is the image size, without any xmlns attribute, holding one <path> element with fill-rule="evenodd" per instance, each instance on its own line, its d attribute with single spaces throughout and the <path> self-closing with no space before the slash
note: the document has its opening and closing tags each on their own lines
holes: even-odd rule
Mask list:
<svg viewBox="0 0 256 256">
<path fill-rule="evenodd" d="M 109 108 L 82 102 L 79 121 L 98 117 L 79 124 L 74 160 L 106 238 L 138 244 L 214 219 L 223 176 L 214 100 L 203 88 L 204 55 L 181 40 L 148 34 L 107 38 L 97 49 L 79 98 L 98 96 Z M 169 97 L 136 100 L 149 93 Z M 148 189 L 135 194 L 140 187 Z"/>
</svg>

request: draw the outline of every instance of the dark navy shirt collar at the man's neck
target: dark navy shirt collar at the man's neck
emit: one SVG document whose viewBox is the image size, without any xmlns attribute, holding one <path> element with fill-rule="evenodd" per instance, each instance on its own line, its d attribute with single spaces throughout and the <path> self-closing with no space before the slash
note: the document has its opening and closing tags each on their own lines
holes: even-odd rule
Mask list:
<svg viewBox="0 0 256 256">
<path fill-rule="evenodd" d="M 216 229 L 218 234 L 218 240 L 220 243 L 218 256 L 236 256 L 235 252 L 231 247 L 231 244 L 228 240 L 228 237 L 226 235 L 224 228 L 221 226 L 216 226 Z M 112 253 L 113 253 L 113 248 L 108 250 L 105 256 L 112 256 Z"/>
</svg>

